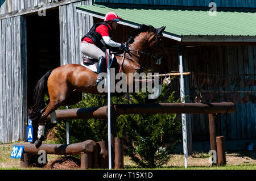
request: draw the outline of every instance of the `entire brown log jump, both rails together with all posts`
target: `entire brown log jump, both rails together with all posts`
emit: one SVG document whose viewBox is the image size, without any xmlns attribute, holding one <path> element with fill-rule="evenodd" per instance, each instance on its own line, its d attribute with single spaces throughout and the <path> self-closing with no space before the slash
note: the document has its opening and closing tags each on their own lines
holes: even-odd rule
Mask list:
<svg viewBox="0 0 256 181">
<path fill-rule="evenodd" d="M 224 137 L 216 137 L 216 115 L 220 113 L 233 113 L 236 111 L 234 103 L 152 103 L 152 104 L 116 104 L 111 106 L 112 124 L 118 115 L 140 113 L 196 113 L 209 115 L 210 149 L 218 151 L 218 165 L 225 164 Z M 68 110 L 56 110 L 56 120 L 70 119 L 108 119 L 108 106 L 76 108 Z M 50 115 L 47 121 L 50 121 Z M 112 165 L 115 169 L 123 169 L 123 141 L 116 137 L 115 128 L 112 131 Z M 216 144 L 217 139 L 217 144 Z M 37 154 L 39 150 L 45 150 L 47 154 L 81 154 L 81 168 L 108 168 L 108 141 L 95 143 L 87 140 L 71 145 L 43 144 L 39 149 L 34 144 L 24 145 L 24 157 L 26 154 Z M 97 154 L 96 154 L 97 153 Z M 26 159 L 21 160 L 21 165 L 26 166 Z M 24 164 L 25 163 L 25 164 Z"/>
</svg>

